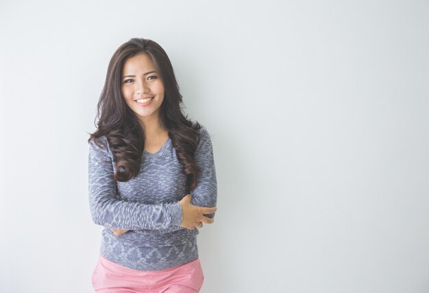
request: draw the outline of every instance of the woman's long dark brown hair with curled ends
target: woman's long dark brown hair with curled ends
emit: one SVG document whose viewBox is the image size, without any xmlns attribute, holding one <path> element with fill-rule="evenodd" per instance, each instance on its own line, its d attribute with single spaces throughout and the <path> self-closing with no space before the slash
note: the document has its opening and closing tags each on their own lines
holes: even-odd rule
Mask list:
<svg viewBox="0 0 429 293">
<path fill-rule="evenodd" d="M 194 161 L 194 154 L 201 125 L 198 122 L 193 124 L 187 119 L 188 115 L 184 116 L 182 113 L 182 95 L 173 66 L 167 53 L 154 40 L 131 38 L 114 52 L 97 104 L 97 130 L 93 134 L 88 133 L 88 143 L 94 139 L 97 145 L 101 145 L 99 138 L 106 136 L 117 167 L 114 180 L 125 182 L 137 176 L 145 146 L 145 132 L 134 112 L 125 103 L 121 92 L 121 74 L 125 61 L 140 53 L 150 56 L 164 84 L 164 100 L 159 111 L 160 124 L 168 130 L 177 160 L 182 164 L 188 194 L 197 186 L 200 172 Z"/>
</svg>

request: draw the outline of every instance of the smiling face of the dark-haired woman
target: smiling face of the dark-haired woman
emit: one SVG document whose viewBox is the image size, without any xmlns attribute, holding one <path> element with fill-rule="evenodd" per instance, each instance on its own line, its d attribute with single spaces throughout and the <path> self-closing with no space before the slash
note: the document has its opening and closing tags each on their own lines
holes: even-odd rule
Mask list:
<svg viewBox="0 0 429 293">
<path fill-rule="evenodd" d="M 164 84 L 149 55 L 137 54 L 125 61 L 121 91 L 125 102 L 143 125 L 159 121 Z"/>
</svg>

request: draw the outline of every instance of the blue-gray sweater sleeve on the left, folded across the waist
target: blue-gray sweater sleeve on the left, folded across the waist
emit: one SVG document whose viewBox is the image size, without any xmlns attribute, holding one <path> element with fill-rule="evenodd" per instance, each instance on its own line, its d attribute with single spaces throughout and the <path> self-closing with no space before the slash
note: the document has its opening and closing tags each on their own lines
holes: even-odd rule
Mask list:
<svg viewBox="0 0 429 293">
<path fill-rule="evenodd" d="M 112 155 L 106 137 L 101 141 L 104 149 L 91 140 L 88 154 L 88 195 L 93 222 L 107 228 L 129 230 L 180 226 L 182 207 L 179 202 L 143 204 L 119 200 Z"/>
</svg>

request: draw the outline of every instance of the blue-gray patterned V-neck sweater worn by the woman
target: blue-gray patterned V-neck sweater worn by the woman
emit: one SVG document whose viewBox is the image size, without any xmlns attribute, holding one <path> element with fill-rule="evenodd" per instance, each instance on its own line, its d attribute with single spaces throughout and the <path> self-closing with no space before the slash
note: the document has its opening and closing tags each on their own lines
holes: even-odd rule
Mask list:
<svg viewBox="0 0 429 293">
<path fill-rule="evenodd" d="M 191 203 L 215 207 L 217 180 L 210 134 L 203 126 L 195 152 L 201 168 Z M 198 257 L 198 229 L 182 228 L 179 201 L 186 196 L 186 176 L 177 161 L 171 139 L 155 154 L 143 151 L 140 172 L 127 182 L 114 180 L 112 151 L 106 137 L 103 148 L 90 141 L 88 195 L 95 224 L 104 226 L 100 253 L 106 259 L 135 270 L 163 270 Z M 206 215 L 213 218 L 214 213 Z M 110 228 L 130 229 L 116 236 Z"/>
</svg>

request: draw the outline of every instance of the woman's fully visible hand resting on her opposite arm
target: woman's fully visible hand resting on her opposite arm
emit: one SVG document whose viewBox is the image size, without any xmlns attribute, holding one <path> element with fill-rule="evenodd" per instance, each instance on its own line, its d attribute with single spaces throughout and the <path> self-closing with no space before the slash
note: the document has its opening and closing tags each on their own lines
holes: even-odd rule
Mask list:
<svg viewBox="0 0 429 293">
<path fill-rule="evenodd" d="M 180 226 L 189 230 L 194 230 L 195 228 L 201 228 L 203 223 L 212 224 L 215 219 L 207 218 L 205 215 L 215 213 L 217 207 L 198 207 L 191 204 L 191 198 L 191 194 L 187 194 L 179 202 L 182 207 L 183 218 Z"/>
</svg>

